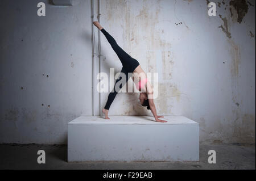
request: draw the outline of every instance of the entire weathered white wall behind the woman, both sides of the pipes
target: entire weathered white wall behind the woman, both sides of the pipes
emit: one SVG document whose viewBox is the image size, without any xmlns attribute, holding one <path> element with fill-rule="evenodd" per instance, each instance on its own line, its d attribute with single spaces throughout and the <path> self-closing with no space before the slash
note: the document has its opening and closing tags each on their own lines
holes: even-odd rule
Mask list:
<svg viewBox="0 0 256 181">
<path fill-rule="evenodd" d="M 46 17 L 36 15 L 38 2 Z M 201 141 L 255 142 L 255 1 L 211 1 L 217 16 L 204 0 L 101 2 L 105 30 L 144 71 L 159 73 L 160 115 L 199 122 Z M 0 142 L 65 143 L 67 123 L 92 115 L 91 1 L 0 5 Z M 102 71 L 118 73 L 102 34 L 101 44 Z M 107 96 L 96 92 L 96 113 Z M 137 93 L 118 94 L 109 113 L 151 114 Z"/>
</svg>

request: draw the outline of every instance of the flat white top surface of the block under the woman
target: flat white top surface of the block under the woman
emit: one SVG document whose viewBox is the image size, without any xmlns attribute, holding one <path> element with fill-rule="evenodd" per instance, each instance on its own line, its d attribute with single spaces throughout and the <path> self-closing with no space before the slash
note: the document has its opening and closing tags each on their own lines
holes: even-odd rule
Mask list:
<svg viewBox="0 0 256 181">
<path fill-rule="evenodd" d="M 184 116 L 164 116 L 160 118 L 168 121 L 167 123 L 158 123 L 151 116 L 109 116 L 106 120 L 101 116 L 80 116 L 68 124 L 198 124 L 195 121 Z"/>
</svg>

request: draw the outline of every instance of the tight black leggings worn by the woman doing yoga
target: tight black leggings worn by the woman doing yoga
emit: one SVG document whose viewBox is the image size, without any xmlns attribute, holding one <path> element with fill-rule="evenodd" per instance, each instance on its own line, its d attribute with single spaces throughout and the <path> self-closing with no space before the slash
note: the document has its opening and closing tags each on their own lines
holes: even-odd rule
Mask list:
<svg viewBox="0 0 256 181">
<path fill-rule="evenodd" d="M 117 53 L 117 56 L 119 60 L 121 61 L 123 68 L 121 70 L 121 73 L 124 73 L 126 75 L 126 82 L 128 81 L 128 73 L 133 73 L 133 71 L 139 66 L 139 62 L 132 58 L 129 54 L 127 54 L 121 47 L 118 46 L 117 42 L 115 39 L 109 35 L 104 28 L 101 30 L 101 32 L 106 36 L 106 39 L 109 41 L 111 47 Z M 115 85 L 117 82 L 121 81 L 122 77 L 119 77 L 117 81 L 115 82 Z M 121 89 L 123 84 L 119 86 Z M 115 99 L 115 96 L 118 94 L 117 91 L 115 91 L 115 86 L 114 86 L 114 92 L 110 92 L 108 96 L 108 101 L 106 102 L 106 106 L 104 107 L 106 110 L 109 110 L 111 104 L 113 103 L 113 100 Z"/>
</svg>

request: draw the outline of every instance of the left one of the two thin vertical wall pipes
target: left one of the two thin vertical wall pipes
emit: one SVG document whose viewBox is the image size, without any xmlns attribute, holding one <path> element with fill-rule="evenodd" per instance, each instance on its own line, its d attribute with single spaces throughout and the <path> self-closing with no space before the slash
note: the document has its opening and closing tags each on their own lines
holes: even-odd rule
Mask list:
<svg viewBox="0 0 256 181">
<path fill-rule="evenodd" d="M 92 22 L 94 22 L 94 0 L 92 0 Z M 94 24 L 92 23 L 92 36 L 93 36 L 93 70 L 92 70 L 92 91 L 93 91 L 93 100 L 92 100 L 92 113 L 95 116 L 95 36 L 94 36 Z"/>
</svg>

